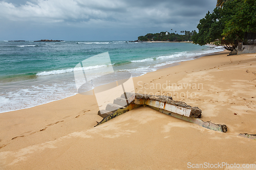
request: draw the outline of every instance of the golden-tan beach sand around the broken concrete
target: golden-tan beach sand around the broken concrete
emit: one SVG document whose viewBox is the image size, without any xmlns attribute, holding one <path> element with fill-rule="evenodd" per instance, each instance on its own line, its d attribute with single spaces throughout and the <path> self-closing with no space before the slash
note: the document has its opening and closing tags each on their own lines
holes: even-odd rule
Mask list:
<svg viewBox="0 0 256 170">
<path fill-rule="evenodd" d="M 198 106 L 203 120 L 225 124 L 226 133 L 149 107 L 94 128 L 102 119 L 97 115 L 96 98 L 81 94 L 1 113 L 0 169 L 186 169 L 188 162 L 256 164 L 256 140 L 238 136 L 256 134 L 255 73 L 256 54 L 227 56 L 223 52 L 134 78 L 136 92 L 168 94 Z"/>
</svg>

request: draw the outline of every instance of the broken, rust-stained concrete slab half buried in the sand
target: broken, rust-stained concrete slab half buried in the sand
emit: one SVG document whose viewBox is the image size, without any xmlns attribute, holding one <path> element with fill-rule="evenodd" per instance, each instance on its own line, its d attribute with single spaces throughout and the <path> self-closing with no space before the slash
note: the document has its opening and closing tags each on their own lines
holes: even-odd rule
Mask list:
<svg viewBox="0 0 256 170">
<path fill-rule="evenodd" d="M 121 95 L 121 99 L 117 98 L 116 101 L 126 101 L 129 104 L 125 107 L 120 107 L 119 105 L 115 106 L 116 104 L 108 104 L 107 107 L 110 107 L 110 110 L 117 109 L 112 114 L 104 117 L 100 123 L 96 126 L 107 122 L 108 120 L 121 115 L 129 110 L 140 106 L 150 106 L 151 108 L 158 110 L 162 113 L 168 114 L 170 116 L 180 118 L 186 120 L 187 122 L 195 123 L 201 127 L 227 132 L 226 125 L 214 124 L 211 122 L 204 122 L 203 120 L 199 119 L 201 117 L 201 109 L 198 107 L 191 107 L 184 102 L 174 101 L 171 96 L 164 96 L 164 95 L 147 95 L 147 94 L 139 94 L 139 93 L 124 93 Z M 109 108 L 108 108 L 109 109 Z M 106 110 L 108 110 L 106 109 Z"/>
</svg>

